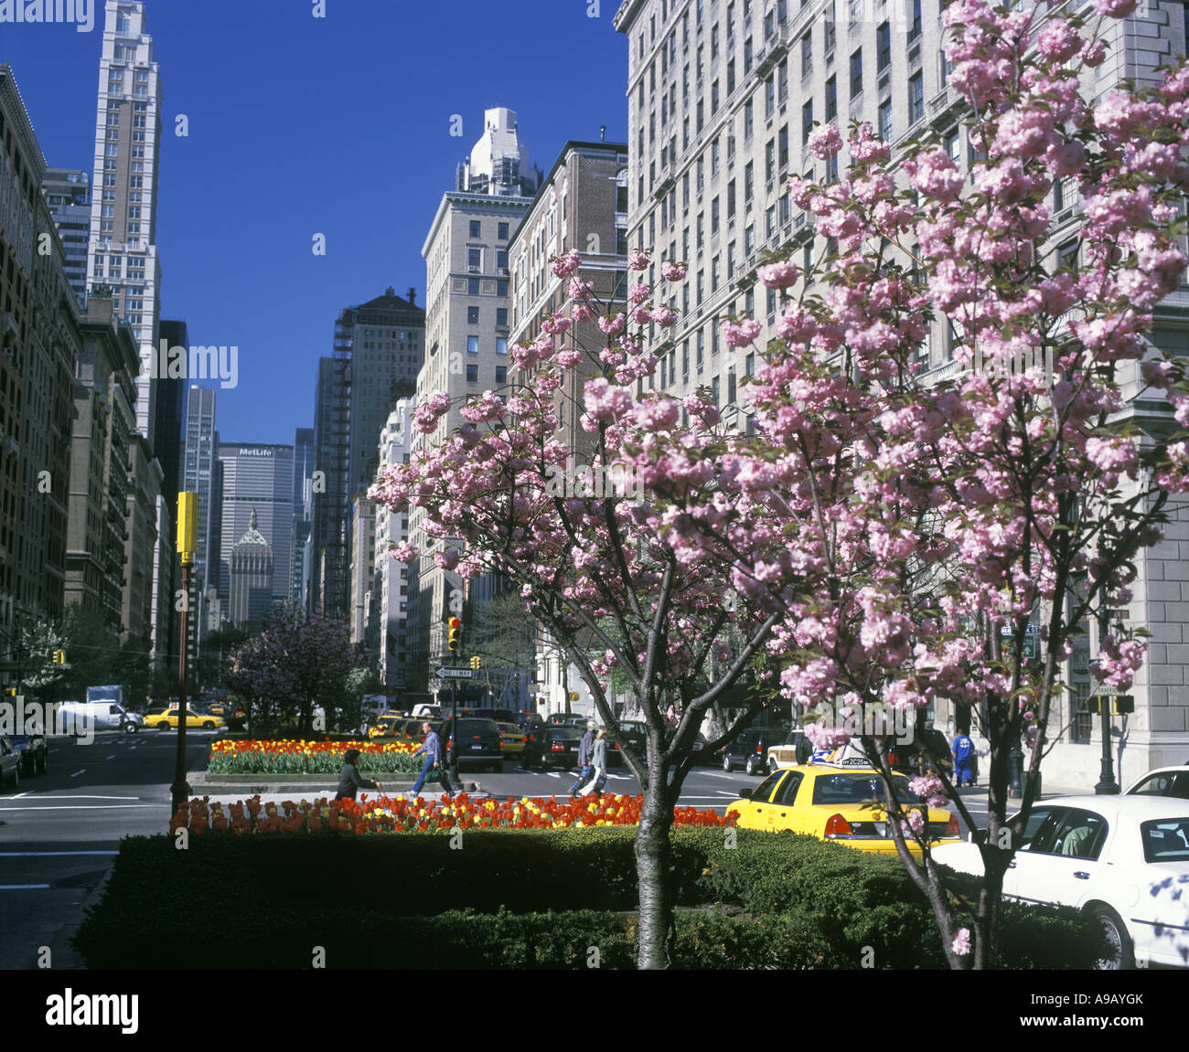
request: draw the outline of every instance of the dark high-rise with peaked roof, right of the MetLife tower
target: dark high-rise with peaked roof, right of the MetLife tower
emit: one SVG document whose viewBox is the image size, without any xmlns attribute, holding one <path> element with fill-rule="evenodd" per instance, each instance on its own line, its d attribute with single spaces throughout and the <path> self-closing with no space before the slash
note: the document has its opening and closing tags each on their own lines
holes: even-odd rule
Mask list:
<svg viewBox="0 0 1189 1052">
<path fill-rule="evenodd" d="M 424 354 L 426 314 L 388 288 L 334 325 L 334 352 L 319 361 L 314 420 L 314 605 L 347 616 L 351 606 L 352 505 L 378 468 L 384 422 L 398 398 L 413 393 Z"/>
</svg>

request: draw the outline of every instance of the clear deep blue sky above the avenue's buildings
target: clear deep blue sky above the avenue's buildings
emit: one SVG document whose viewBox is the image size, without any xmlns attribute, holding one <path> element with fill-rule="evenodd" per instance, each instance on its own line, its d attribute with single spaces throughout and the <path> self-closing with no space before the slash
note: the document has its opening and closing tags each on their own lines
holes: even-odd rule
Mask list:
<svg viewBox="0 0 1189 1052">
<path fill-rule="evenodd" d="M 316 19 L 313 0 L 147 0 L 164 90 L 162 315 L 184 320 L 191 344 L 239 347 L 239 385 L 218 395 L 225 440 L 292 442 L 313 426 L 344 307 L 388 285 L 424 304 L 421 245 L 484 109 L 516 111 L 543 171 L 600 125 L 625 141 L 618 0 L 594 6 L 598 18 L 589 0 L 326 0 Z M 101 7 L 90 33 L 0 24 L 0 62 L 56 168 L 92 170 Z"/>
</svg>

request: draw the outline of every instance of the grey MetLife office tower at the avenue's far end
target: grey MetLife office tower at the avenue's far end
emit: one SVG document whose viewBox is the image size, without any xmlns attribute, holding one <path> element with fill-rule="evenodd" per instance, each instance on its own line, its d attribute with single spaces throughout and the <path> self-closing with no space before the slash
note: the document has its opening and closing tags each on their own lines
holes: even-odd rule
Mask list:
<svg viewBox="0 0 1189 1052">
<path fill-rule="evenodd" d="M 292 596 L 290 544 L 294 521 L 294 447 L 220 442 L 218 449 L 221 497 L 219 500 L 219 603 L 231 616 L 232 548 L 250 530 L 271 546 L 272 601 Z"/>
</svg>

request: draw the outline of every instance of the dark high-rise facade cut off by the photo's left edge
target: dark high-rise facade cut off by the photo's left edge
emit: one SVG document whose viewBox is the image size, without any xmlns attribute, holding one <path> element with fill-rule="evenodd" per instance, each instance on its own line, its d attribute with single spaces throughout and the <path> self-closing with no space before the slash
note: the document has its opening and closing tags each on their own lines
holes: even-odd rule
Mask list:
<svg viewBox="0 0 1189 1052">
<path fill-rule="evenodd" d="M 45 159 L 0 64 L 0 630 L 65 596 L 74 376 L 82 351 Z"/>
</svg>

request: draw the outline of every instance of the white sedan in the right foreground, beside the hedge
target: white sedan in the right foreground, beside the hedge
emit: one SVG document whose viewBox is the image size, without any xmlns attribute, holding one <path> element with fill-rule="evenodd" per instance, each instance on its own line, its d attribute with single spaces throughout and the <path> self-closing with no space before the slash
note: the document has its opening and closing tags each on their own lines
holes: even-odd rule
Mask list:
<svg viewBox="0 0 1189 1052">
<path fill-rule="evenodd" d="M 933 858 L 960 873 L 983 871 L 975 844 L 937 848 Z M 1028 815 L 1004 894 L 1100 918 L 1114 947 L 1102 968 L 1189 968 L 1189 801 L 1042 800 Z"/>
</svg>

